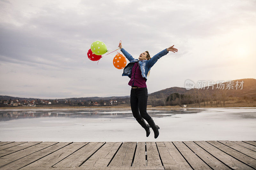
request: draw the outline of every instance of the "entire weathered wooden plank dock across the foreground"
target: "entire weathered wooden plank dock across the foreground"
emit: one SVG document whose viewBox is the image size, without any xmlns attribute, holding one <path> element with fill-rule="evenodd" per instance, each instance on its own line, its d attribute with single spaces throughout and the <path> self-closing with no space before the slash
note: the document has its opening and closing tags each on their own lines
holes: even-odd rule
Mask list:
<svg viewBox="0 0 256 170">
<path fill-rule="evenodd" d="M 256 169 L 256 142 L 0 142 L 0 169 Z"/>
</svg>

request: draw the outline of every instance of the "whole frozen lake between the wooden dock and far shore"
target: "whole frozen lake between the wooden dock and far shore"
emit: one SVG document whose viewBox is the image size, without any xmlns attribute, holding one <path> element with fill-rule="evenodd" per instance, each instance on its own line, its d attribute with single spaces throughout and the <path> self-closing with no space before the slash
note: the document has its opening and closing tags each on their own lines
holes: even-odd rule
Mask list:
<svg viewBox="0 0 256 170">
<path fill-rule="evenodd" d="M 256 108 L 147 108 L 154 138 L 130 108 L 0 109 L 0 141 L 124 142 L 256 140 Z"/>
</svg>

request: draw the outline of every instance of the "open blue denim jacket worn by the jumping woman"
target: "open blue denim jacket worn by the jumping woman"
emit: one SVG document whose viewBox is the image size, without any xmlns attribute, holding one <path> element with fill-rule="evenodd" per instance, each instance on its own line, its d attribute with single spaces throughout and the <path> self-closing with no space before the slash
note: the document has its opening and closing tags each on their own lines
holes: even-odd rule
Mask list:
<svg viewBox="0 0 256 170">
<path fill-rule="evenodd" d="M 146 81 L 148 79 L 147 75 L 148 75 L 148 71 L 150 70 L 150 68 L 156 63 L 156 61 L 159 58 L 161 58 L 162 56 L 169 53 L 169 51 L 167 51 L 167 48 L 165 48 L 163 51 L 157 53 L 152 58 L 150 58 L 150 60 L 139 60 L 139 59 L 134 59 L 132 57 L 132 55 L 130 55 L 124 48 L 121 48 L 121 51 L 124 54 L 124 56 L 130 61 L 130 63 L 128 63 L 124 67 L 124 72 L 123 72 L 122 76 L 128 76 L 129 78 L 131 78 L 131 76 L 132 76 L 132 67 L 133 67 L 135 62 L 139 61 L 141 75 L 142 75 L 142 77 L 146 78 Z"/>
</svg>

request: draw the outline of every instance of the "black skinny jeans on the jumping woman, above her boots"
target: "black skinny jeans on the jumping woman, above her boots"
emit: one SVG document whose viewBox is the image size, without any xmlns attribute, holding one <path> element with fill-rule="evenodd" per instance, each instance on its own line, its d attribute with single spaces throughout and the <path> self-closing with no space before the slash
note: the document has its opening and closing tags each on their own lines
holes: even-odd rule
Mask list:
<svg viewBox="0 0 256 170">
<path fill-rule="evenodd" d="M 131 88 L 130 102 L 131 102 L 132 115 L 133 117 L 136 118 L 136 120 L 143 118 L 146 121 L 148 121 L 151 119 L 151 117 L 147 113 L 147 102 L 148 102 L 147 87 Z"/>
</svg>

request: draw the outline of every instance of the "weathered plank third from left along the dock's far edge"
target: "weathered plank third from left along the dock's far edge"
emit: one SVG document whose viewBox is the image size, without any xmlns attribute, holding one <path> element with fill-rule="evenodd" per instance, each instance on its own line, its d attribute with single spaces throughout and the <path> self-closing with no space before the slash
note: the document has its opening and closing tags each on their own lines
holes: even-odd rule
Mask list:
<svg viewBox="0 0 256 170">
<path fill-rule="evenodd" d="M 0 151 L 0 157 L 11 154 L 13 152 L 20 151 L 22 149 L 25 149 L 25 148 L 28 148 L 28 147 L 31 147 L 31 146 L 34 146 L 36 144 L 40 144 L 40 143 L 42 143 L 42 142 L 26 142 L 24 144 L 20 144 L 20 145 L 17 145 L 17 146 L 13 146 L 11 148 L 1 150 Z"/>
</svg>

